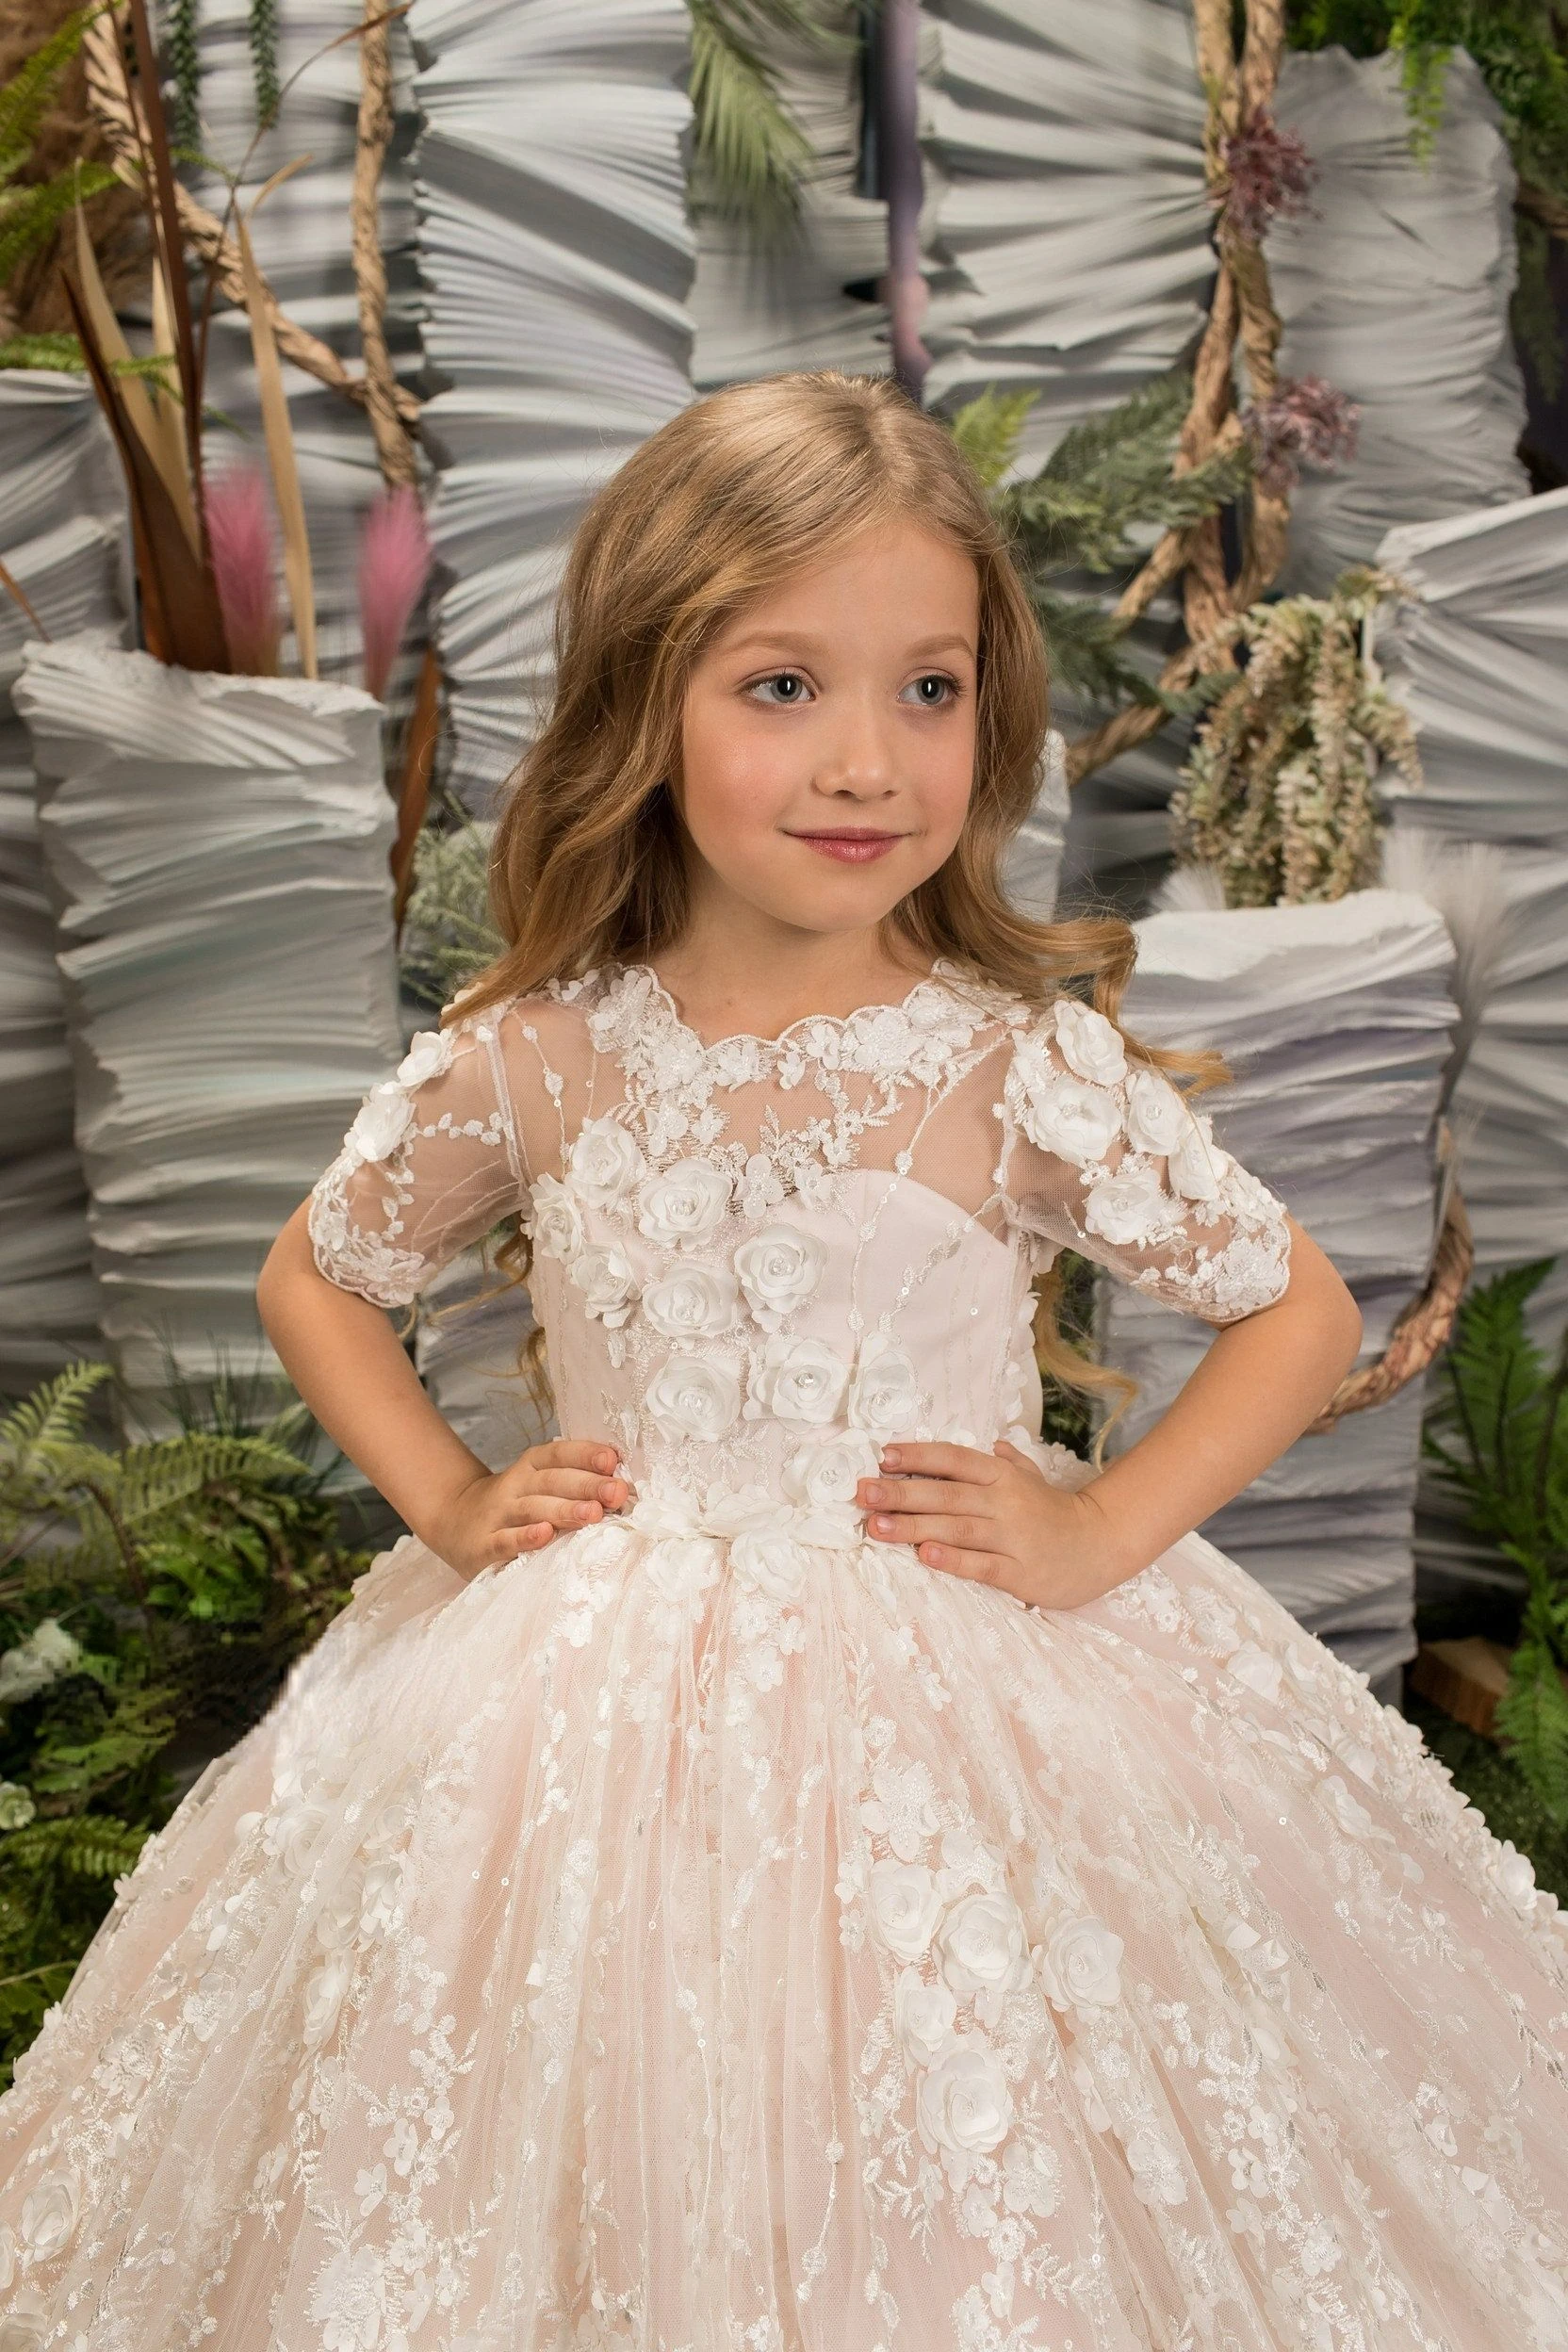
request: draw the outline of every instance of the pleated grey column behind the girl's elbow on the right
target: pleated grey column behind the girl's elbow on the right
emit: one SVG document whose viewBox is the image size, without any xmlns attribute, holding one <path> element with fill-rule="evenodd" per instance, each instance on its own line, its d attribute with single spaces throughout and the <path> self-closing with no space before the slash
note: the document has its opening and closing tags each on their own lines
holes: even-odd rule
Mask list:
<svg viewBox="0 0 1568 2352">
<path fill-rule="evenodd" d="M 1124 1007 L 1133 1035 L 1218 1044 L 1227 1150 L 1272 1185 L 1349 1282 L 1361 1362 L 1420 1291 L 1434 1242 L 1434 1110 L 1448 1054 L 1453 943 L 1399 891 L 1335 906 L 1152 915 Z M 1107 1362 L 1143 1395 L 1112 1437 L 1140 1435 L 1211 1343 L 1135 1291 L 1105 1287 Z M 1415 1656 L 1413 1550 L 1420 1388 L 1300 1437 L 1206 1522 L 1274 1599 L 1368 1675 Z"/>
</svg>

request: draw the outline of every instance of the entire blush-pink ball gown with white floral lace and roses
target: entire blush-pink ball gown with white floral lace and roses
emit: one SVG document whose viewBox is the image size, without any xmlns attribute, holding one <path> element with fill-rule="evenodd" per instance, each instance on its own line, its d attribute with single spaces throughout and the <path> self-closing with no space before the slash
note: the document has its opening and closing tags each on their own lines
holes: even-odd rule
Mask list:
<svg viewBox="0 0 1568 2352">
<path fill-rule="evenodd" d="M 872 1545 L 1032 1439 L 1065 1244 L 1220 1324 L 1279 1202 L 1077 1002 L 703 1044 L 642 967 L 414 1042 L 310 1216 L 534 1235 L 625 1522 L 404 1538 L 115 1889 L 0 2100 L 0 2352 L 1568 2347 L 1568 1945 L 1187 1536 L 1063 1613 Z"/>
</svg>

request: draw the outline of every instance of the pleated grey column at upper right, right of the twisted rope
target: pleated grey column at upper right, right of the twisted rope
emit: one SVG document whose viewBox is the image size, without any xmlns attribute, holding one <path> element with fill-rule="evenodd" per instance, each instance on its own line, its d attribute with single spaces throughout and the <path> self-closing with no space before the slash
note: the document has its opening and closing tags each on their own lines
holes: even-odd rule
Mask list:
<svg viewBox="0 0 1568 2352">
<path fill-rule="evenodd" d="M 1286 52 L 1276 115 L 1307 141 L 1312 212 L 1276 221 L 1269 282 L 1286 376 L 1361 407 L 1354 463 L 1307 468 L 1279 586 L 1321 595 L 1389 524 L 1528 489 L 1514 454 L 1523 383 L 1509 336 L 1514 165 L 1497 103 L 1455 49 L 1429 162 L 1410 153 L 1401 59 Z"/>
</svg>

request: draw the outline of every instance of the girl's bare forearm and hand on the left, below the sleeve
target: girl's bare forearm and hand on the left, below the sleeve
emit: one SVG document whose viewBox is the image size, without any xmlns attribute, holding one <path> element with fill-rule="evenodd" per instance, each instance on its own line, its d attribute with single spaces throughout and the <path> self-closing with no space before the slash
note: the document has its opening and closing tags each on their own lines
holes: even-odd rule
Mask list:
<svg viewBox="0 0 1568 2352">
<path fill-rule="evenodd" d="M 261 1322 L 327 1435 L 421 1543 L 477 1576 L 625 1503 L 609 1444 L 555 1439 L 491 1475 L 430 1404 L 386 1312 L 317 1272 L 308 1209 L 261 1268 Z"/>
</svg>

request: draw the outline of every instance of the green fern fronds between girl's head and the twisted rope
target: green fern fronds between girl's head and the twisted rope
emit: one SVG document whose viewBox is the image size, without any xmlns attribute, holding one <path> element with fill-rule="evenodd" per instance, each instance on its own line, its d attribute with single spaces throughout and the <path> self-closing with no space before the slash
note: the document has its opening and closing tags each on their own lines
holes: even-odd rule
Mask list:
<svg viewBox="0 0 1568 2352">
<path fill-rule="evenodd" d="M 1175 473 L 1175 442 L 1192 400 L 1192 379 L 1178 372 L 1072 426 L 1039 473 L 1004 485 L 1034 400 L 1037 393 L 992 388 L 950 423 L 1020 557 L 1053 677 L 1088 703 L 1138 701 L 1171 715 L 1201 708 L 1218 682 L 1168 694 L 1131 659 L 1126 626 L 1105 604 L 1053 583 L 1067 574 L 1133 572 L 1157 532 L 1201 522 L 1244 494 L 1251 452 L 1241 445 Z"/>
</svg>

